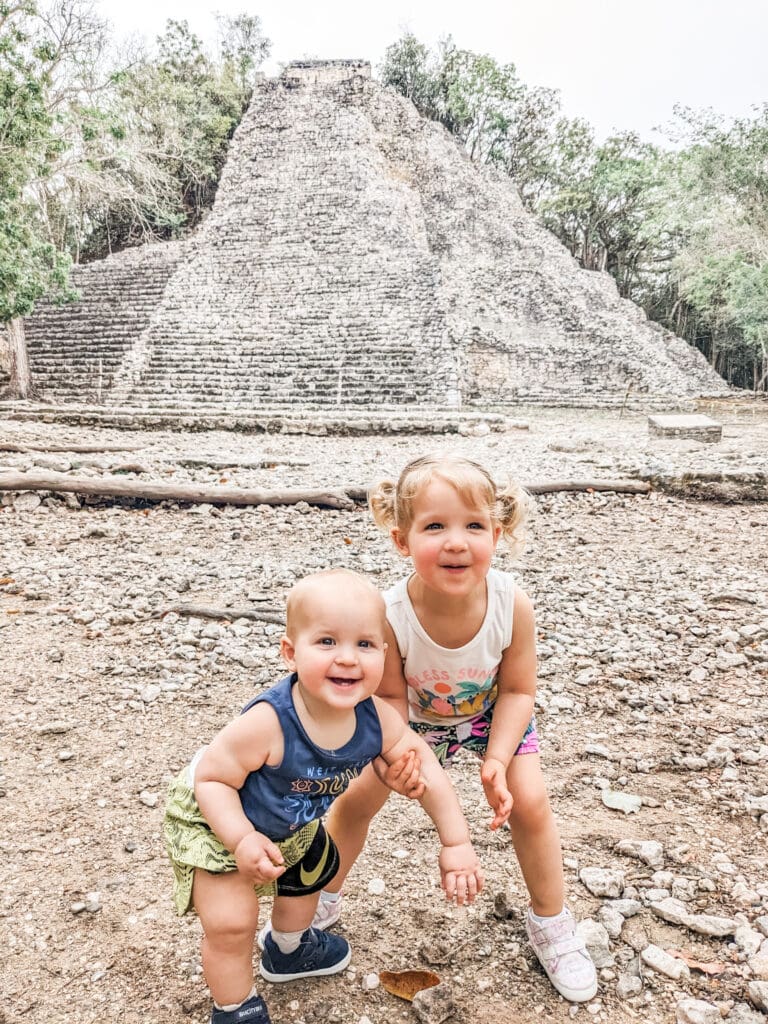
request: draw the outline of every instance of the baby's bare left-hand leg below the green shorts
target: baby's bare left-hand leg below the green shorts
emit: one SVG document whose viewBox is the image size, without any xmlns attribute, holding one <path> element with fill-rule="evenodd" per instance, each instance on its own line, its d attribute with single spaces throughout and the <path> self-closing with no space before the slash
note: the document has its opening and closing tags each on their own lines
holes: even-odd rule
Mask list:
<svg viewBox="0 0 768 1024">
<path fill-rule="evenodd" d="M 243 1002 L 253 988 L 253 941 L 259 900 L 240 871 L 212 874 L 198 868 L 193 903 L 203 925 L 203 971 L 220 1007 Z M 310 914 L 311 916 L 311 914 Z"/>
</svg>

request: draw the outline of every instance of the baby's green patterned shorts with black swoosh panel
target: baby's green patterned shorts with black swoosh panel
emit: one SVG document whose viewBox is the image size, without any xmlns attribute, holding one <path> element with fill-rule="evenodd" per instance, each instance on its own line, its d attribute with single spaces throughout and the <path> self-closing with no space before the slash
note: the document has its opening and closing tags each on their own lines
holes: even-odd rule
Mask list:
<svg viewBox="0 0 768 1024">
<path fill-rule="evenodd" d="M 165 847 L 173 866 L 173 902 L 176 912 L 191 905 L 195 869 L 213 874 L 237 871 L 233 855 L 203 817 L 184 768 L 168 787 L 163 818 Z M 279 879 L 255 885 L 257 896 L 304 896 L 318 892 L 339 869 L 339 851 L 319 820 L 303 825 L 275 845 L 286 862 Z"/>
</svg>

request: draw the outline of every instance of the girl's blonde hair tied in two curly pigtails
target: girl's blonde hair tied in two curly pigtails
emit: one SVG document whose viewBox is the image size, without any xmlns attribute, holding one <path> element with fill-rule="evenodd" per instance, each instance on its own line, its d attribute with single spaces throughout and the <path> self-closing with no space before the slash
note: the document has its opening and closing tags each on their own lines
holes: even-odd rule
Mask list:
<svg viewBox="0 0 768 1024">
<path fill-rule="evenodd" d="M 369 494 L 369 507 L 378 526 L 407 534 L 414 519 L 414 502 L 434 479 L 444 480 L 468 505 L 487 508 L 501 526 L 510 551 L 517 554 L 525 543 L 524 523 L 532 507 L 528 493 L 509 480 L 498 485 L 486 469 L 460 455 L 426 455 L 414 459 L 397 480 L 380 480 Z"/>
</svg>

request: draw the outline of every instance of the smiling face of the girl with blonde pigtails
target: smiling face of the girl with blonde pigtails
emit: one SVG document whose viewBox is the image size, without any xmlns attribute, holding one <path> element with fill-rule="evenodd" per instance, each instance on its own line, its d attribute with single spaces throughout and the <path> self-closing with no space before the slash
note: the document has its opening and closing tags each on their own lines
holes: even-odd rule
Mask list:
<svg viewBox="0 0 768 1024">
<path fill-rule="evenodd" d="M 460 597 L 484 584 L 500 535 L 489 508 L 434 477 L 414 499 L 408 531 L 393 529 L 392 540 L 430 590 Z"/>
</svg>

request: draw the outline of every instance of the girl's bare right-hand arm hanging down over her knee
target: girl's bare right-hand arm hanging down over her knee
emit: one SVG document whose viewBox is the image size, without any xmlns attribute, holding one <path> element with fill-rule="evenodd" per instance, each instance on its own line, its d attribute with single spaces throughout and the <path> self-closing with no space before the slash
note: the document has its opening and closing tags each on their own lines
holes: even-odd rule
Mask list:
<svg viewBox="0 0 768 1024">
<path fill-rule="evenodd" d="M 499 696 L 494 705 L 488 745 L 480 778 L 494 810 L 492 828 L 504 824 L 512 810 L 507 769 L 534 714 L 536 697 L 536 622 L 530 599 L 515 591 L 512 643 L 499 667 Z"/>
</svg>

